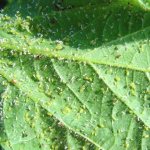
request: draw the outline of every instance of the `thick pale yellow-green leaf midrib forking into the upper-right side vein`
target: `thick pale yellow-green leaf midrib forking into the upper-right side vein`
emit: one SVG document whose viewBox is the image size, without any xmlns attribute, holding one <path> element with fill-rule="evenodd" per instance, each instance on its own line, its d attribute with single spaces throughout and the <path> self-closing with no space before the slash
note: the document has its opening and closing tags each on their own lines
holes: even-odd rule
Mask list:
<svg viewBox="0 0 150 150">
<path fill-rule="evenodd" d="M 89 60 L 89 58 L 87 57 L 84 57 L 86 54 L 89 54 L 97 49 L 101 49 L 101 48 L 105 48 L 105 47 L 109 47 L 110 45 L 114 44 L 114 43 L 117 43 L 118 41 L 120 40 L 124 40 L 130 36 L 133 36 L 133 35 L 136 35 L 137 33 L 140 33 L 140 32 L 143 32 L 146 30 L 150 29 L 150 27 L 146 27 L 140 31 L 137 31 L 137 32 L 134 32 L 130 35 L 126 35 L 124 37 L 121 37 L 120 39 L 117 39 L 117 40 L 114 40 L 114 41 L 111 41 L 105 45 L 102 45 L 101 47 L 99 48 L 96 48 L 94 50 L 91 50 L 91 51 L 75 51 L 73 50 L 73 48 L 70 48 L 70 47 L 66 47 L 68 52 L 69 53 L 65 53 L 66 50 L 62 50 L 60 52 L 57 52 L 57 51 L 53 51 L 53 47 L 51 48 L 48 48 L 48 47 L 39 47 L 39 48 L 36 48 L 34 45 L 29 47 L 28 45 L 25 45 L 25 49 L 28 49 L 29 52 L 33 55 L 40 55 L 40 56 L 46 56 L 46 57 L 50 57 L 50 58 L 58 58 L 58 59 L 66 59 L 66 60 L 73 60 L 73 61 L 79 61 L 79 62 L 84 62 L 84 63 L 93 63 L 93 64 L 99 64 L 99 65 L 106 65 L 106 66 L 112 66 L 112 67 L 116 67 L 116 68 L 123 68 L 123 69 L 128 69 L 128 70 L 134 70 L 134 71 L 140 71 L 140 72 L 150 72 L 150 68 L 139 68 L 139 67 L 135 67 L 133 65 L 123 65 L 123 64 L 118 64 L 118 63 L 110 63 L 110 62 L 106 62 L 106 61 L 100 61 L 100 60 Z M 0 35 L 3 37 L 3 36 L 6 36 L 7 37 L 7 40 L 6 42 L 1 42 L 1 48 L 4 48 L 4 49 L 10 49 L 10 50 L 16 50 L 16 51 L 21 51 L 23 52 L 22 50 L 22 47 L 23 45 L 20 44 L 20 42 L 16 42 L 15 40 L 13 40 L 15 37 L 12 36 L 12 35 L 9 35 L 3 31 L 1 31 Z M 17 37 L 18 38 L 18 37 Z M 2 39 L 5 39 L 5 37 L 3 37 Z M 21 41 L 22 39 L 18 38 L 18 41 Z M 24 42 L 25 43 L 25 42 Z"/>
</svg>

